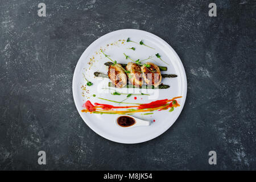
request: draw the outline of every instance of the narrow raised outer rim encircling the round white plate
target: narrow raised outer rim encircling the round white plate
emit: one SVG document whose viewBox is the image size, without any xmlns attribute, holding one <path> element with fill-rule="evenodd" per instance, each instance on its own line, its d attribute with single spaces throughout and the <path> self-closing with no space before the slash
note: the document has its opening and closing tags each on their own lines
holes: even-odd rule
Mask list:
<svg viewBox="0 0 256 182">
<path fill-rule="evenodd" d="M 108 136 L 106 136 L 106 134 L 101 134 L 100 132 L 98 132 L 96 129 L 94 129 L 92 126 L 89 125 L 88 122 L 86 122 L 86 119 L 82 117 L 82 113 L 81 111 L 79 110 L 79 107 L 78 107 L 78 104 L 77 104 L 77 94 L 74 92 L 75 91 L 75 79 L 76 79 L 76 75 L 78 74 L 78 65 L 81 61 L 81 58 L 83 57 L 83 55 L 85 54 L 86 50 L 93 46 L 93 44 L 96 44 L 97 42 L 100 42 L 101 39 L 103 39 L 105 36 L 109 36 L 111 34 L 115 34 L 117 32 L 121 32 L 122 31 L 139 31 L 139 32 L 143 32 L 144 34 L 147 34 L 148 36 L 153 36 L 154 38 L 158 39 L 160 42 L 162 42 L 165 46 L 167 46 L 168 48 L 170 48 L 172 50 L 172 52 L 174 53 L 174 55 L 177 57 L 177 61 L 179 61 L 179 64 L 181 66 L 181 71 L 183 72 L 183 75 L 184 75 L 184 96 L 183 96 L 183 99 L 184 99 L 184 103 L 183 105 L 181 105 L 180 107 L 180 113 L 176 115 L 176 118 L 174 118 L 174 122 L 170 123 L 170 126 L 166 127 L 166 129 L 164 129 L 163 131 L 159 132 L 158 134 L 156 135 L 151 135 L 150 137 L 148 137 L 146 140 L 143 139 L 143 140 L 140 140 L 138 139 L 137 141 L 135 142 L 130 142 L 130 141 L 125 141 L 123 139 L 113 139 L 112 137 L 108 138 Z M 77 61 L 77 64 L 76 64 L 76 67 L 75 67 L 75 70 L 73 72 L 73 78 L 72 78 L 72 95 L 73 95 L 73 100 L 75 102 L 75 106 L 76 106 L 76 109 L 77 111 L 79 112 L 79 115 L 80 117 L 82 118 L 82 120 L 86 123 L 86 125 L 92 129 L 96 134 L 100 135 L 101 137 L 105 138 L 105 139 L 108 139 L 108 140 L 111 140 L 113 142 L 117 142 L 117 143 L 123 143 L 123 144 L 135 144 L 135 143 L 143 143 L 143 142 L 147 142 L 149 140 L 152 140 L 154 138 L 157 138 L 159 137 L 160 135 L 162 135 L 163 133 L 165 133 L 168 129 L 170 129 L 170 127 L 172 125 L 174 125 L 174 123 L 176 122 L 177 118 L 179 118 L 181 112 L 183 111 L 183 107 L 185 105 L 185 101 L 186 101 L 186 98 L 187 98 L 187 75 L 185 73 L 185 68 L 184 68 L 184 65 L 179 57 L 179 55 L 177 55 L 176 51 L 170 46 L 170 44 L 168 44 L 165 40 L 163 40 L 162 38 L 160 38 L 159 36 L 155 35 L 155 34 L 152 34 L 150 32 L 147 32 L 147 31 L 143 31 L 143 30 L 138 30 L 138 29 L 132 29 L 132 28 L 125 28 L 125 29 L 120 29 L 120 30 L 115 30 L 115 31 L 112 31 L 112 32 L 109 32 L 108 34 L 104 34 L 102 36 L 100 36 L 100 38 L 94 40 L 92 43 L 90 43 L 90 45 L 85 49 L 84 52 L 82 52 L 82 55 L 80 56 L 79 60 Z"/>
</svg>

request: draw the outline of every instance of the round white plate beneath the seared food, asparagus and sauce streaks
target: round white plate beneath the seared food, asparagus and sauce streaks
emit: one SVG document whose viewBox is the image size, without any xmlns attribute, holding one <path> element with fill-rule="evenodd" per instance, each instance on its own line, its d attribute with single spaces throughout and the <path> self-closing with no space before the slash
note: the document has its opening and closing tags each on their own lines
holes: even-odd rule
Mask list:
<svg viewBox="0 0 256 182">
<path fill-rule="evenodd" d="M 126 42 L 127 38 L 134 42 L 141 42 L 154 47 L 155 49 L 148 48 L 133 42 Z M 135 51 L 128 49 L 135 47 Z M 105 57 L 100 50 L 103 50 L 106 55 L 109 55 L 113 60 L 117 60 L 118 63 L 128 63 L 129 60 L 125 59 L 123 53 L 129 55 L 132 59 L 143 60 L 148 56 L 153 56 L 150 61 L 157 65 L 166 66 L 167 71 L 162 74 L 176 74 L 175 78 L 163 78 L 163 84 L 170 85 L 168 89 L 133 89 L 133 92 L 137 93 L 150 93 L 151 96 L 134 96 L 127 98 L 125 102 L 139 102 L 139 103 L 150 103 L 156 100 L 172 99 L 173 97 L 182 96 L 178 98 L 177 102 L 180 104 L 179 107 L 175 107 L 174 111 L 169 110 L 154 111 L 154 114 L 143 115 L 143 113 L 135 113 L 134 117 L 151 121 L 150 126 L 139 126 L 133 128 L 122 128 L 118 127 L 115 123 L 115 119 L 118 114 L 93 114 L 83 113 L 81 110 L 84 109 L 83 105 L 86 101 L 98 102 L 101 104 L 109 104 L 114 106 L 126 106 L 127 104 L 117 104 L 105 100 L 100 100 L 98 97 L 107 98 L 109 100 L 122 101 L 127 95 L 122 94 L 121 96 L 113 96 L 109 93 L 109 90 L 102 89 L 108 88 L 108 78 L 94 77 L 93 73 L 108 72 L 108 67 L 104 65 L 109 60 Z M 161 55 L 161 58 L 166 61 L 163 63 L 159 58 L 155 56 L 156 53 Z M 93 83 L 92 86 L 86 86 L 87 80 Z M 82 119 L 85 123 L 97 134 L 102 137 L 119 143 L 141 143 L 158 137 L 164 131 L 172 126 L 172 124 L 179 117 L 181 110 L 185 104 L 185 98 L 187 94 L 187 77 L 185 75 L 183 64 L 179 56 L 176 54 L 174 49 L 166 43 L 163 39 L 158 36 L 142 30 L 124 29 L 114 32 L 110 32 L 95 40 L 86 50 L 82 53 L 76 69 L 73 75 L 73 97 L 75 100 L 76 108 L 79 111 Z M 127 89 L 118 89 L 118 92 L 130 93 Z M 93 94 L 96 97 L 93 97 Z"/>
</svg>

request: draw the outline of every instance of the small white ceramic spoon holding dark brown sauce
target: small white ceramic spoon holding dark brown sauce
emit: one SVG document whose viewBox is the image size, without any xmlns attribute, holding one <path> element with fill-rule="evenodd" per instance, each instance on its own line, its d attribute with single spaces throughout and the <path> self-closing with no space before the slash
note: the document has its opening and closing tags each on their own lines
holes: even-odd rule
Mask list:
<svg viewBox="0 0 256 182">
<path fill-rule="evenodd" d="M 122 119 L 123 118 L 123 119 Z M 129 119 L 130 122 L 128 122 L 128 125 L 126 126 L 122 126 L 122 121 L 125 121 L 126 119 Z M 117 124 L 117 126 L 119 127 L 123 127 L 123 128 L 132 128 L 132 127 L 137 127 L 137 126 L 150 126 L 150 121 L 146 121 L 146 120 L 142 120 L 142 119 L 138 119 L 135 118 L 131 115 L 119 115 L 117 117 L 117 119 L 115 119 L 115 123 Z"/>
</svg>

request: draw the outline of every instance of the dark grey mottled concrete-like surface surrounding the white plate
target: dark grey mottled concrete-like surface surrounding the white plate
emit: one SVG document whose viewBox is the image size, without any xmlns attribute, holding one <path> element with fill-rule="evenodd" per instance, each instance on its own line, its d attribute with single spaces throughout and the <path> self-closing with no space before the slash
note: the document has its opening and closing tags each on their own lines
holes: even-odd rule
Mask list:
<svg viewBox="0 0 256 182">
<path fill-rule="evenodd" d="M 217 17 L 208 16 L 210 2 Z M 255 170 L 255 9 L 249 0 L 0 0 L 0 169 Z M 94 133 L 72 97 L 82 52 L 123 28 L 170 43 L 188 78 L 180 117 L 141 144 Z"/>
</svg>

